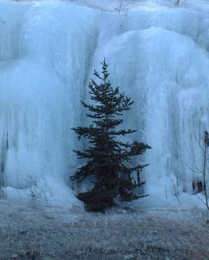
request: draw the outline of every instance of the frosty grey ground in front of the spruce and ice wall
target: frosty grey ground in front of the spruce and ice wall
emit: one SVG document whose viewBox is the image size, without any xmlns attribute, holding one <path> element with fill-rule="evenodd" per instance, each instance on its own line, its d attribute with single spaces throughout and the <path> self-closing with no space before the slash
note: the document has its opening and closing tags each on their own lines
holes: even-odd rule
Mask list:
<svg viewBox="0 0 209 260">
<path fill-rule="evenodd" d="M 87 213 L 0 201 L 0 259 L 209 259 L 206 210 Z"/>
</svg>

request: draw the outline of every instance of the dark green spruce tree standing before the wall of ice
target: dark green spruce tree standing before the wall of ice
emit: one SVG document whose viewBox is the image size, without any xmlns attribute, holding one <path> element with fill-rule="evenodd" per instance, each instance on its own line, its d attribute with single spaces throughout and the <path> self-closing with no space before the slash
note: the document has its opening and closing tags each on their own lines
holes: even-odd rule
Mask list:
<svg viewBox="0 0 209 260">
<path fill-rule="evenodd" d="M 124 93 L 120 93 L 119 87 L 111 86 L 105 58 L 101 64 L 102 76 L 97 71 L 93 73 L 95 78 L 100 80 L 100 84 L 91 79 L 88 85 L 90 98 L 94 103 L 87 104 L 82 101 L 82 105 L 88 110 L 86 116 L 91 118 L 92 124 L 89 127 L 72 129 L 79 140 L 88 138 L 88 149 L 74 150 L 79 159 L 86 159 L 87 162 L 77 169 L 71 180 L 93 180 L 91 190 L 77 194 L 77 197 L 84 201 L 86 209 L 92 211 L 103 211 L 111 207 L 114 205 L 114 199 L 127 202 L 144 196 L 136 191 L 145 182 L 136 183 L 131 173 L 148 164 L 132 167 L 128 165 L 132 163 L 132 157 L 144 154 L 150 149 L 145 143 L 120 140 L 120 136 L 135 132 L 132 129 L 118 129 L 123 123 L 123 111 L 130 110 L 134 102 Z"/>
</svg>

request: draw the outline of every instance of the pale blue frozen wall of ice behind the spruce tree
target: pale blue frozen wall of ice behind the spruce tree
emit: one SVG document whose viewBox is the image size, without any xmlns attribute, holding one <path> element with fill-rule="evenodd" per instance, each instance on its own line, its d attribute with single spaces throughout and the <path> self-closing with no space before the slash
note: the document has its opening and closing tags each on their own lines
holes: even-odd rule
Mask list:
<svg viewBox="0 0 209 260">
<path fill-rule="evenodd" d="M 111 3 L 111 5 L 110 5 Z M 209 129 L 209 2 L 0 0 L 0 160 L 4 184 L 26 173 L 67 180 L 82 146 L 93 68 L 134 100 L 125 126 L 153 147 L 146 189 L 192 192 Z"/>
</svg>

